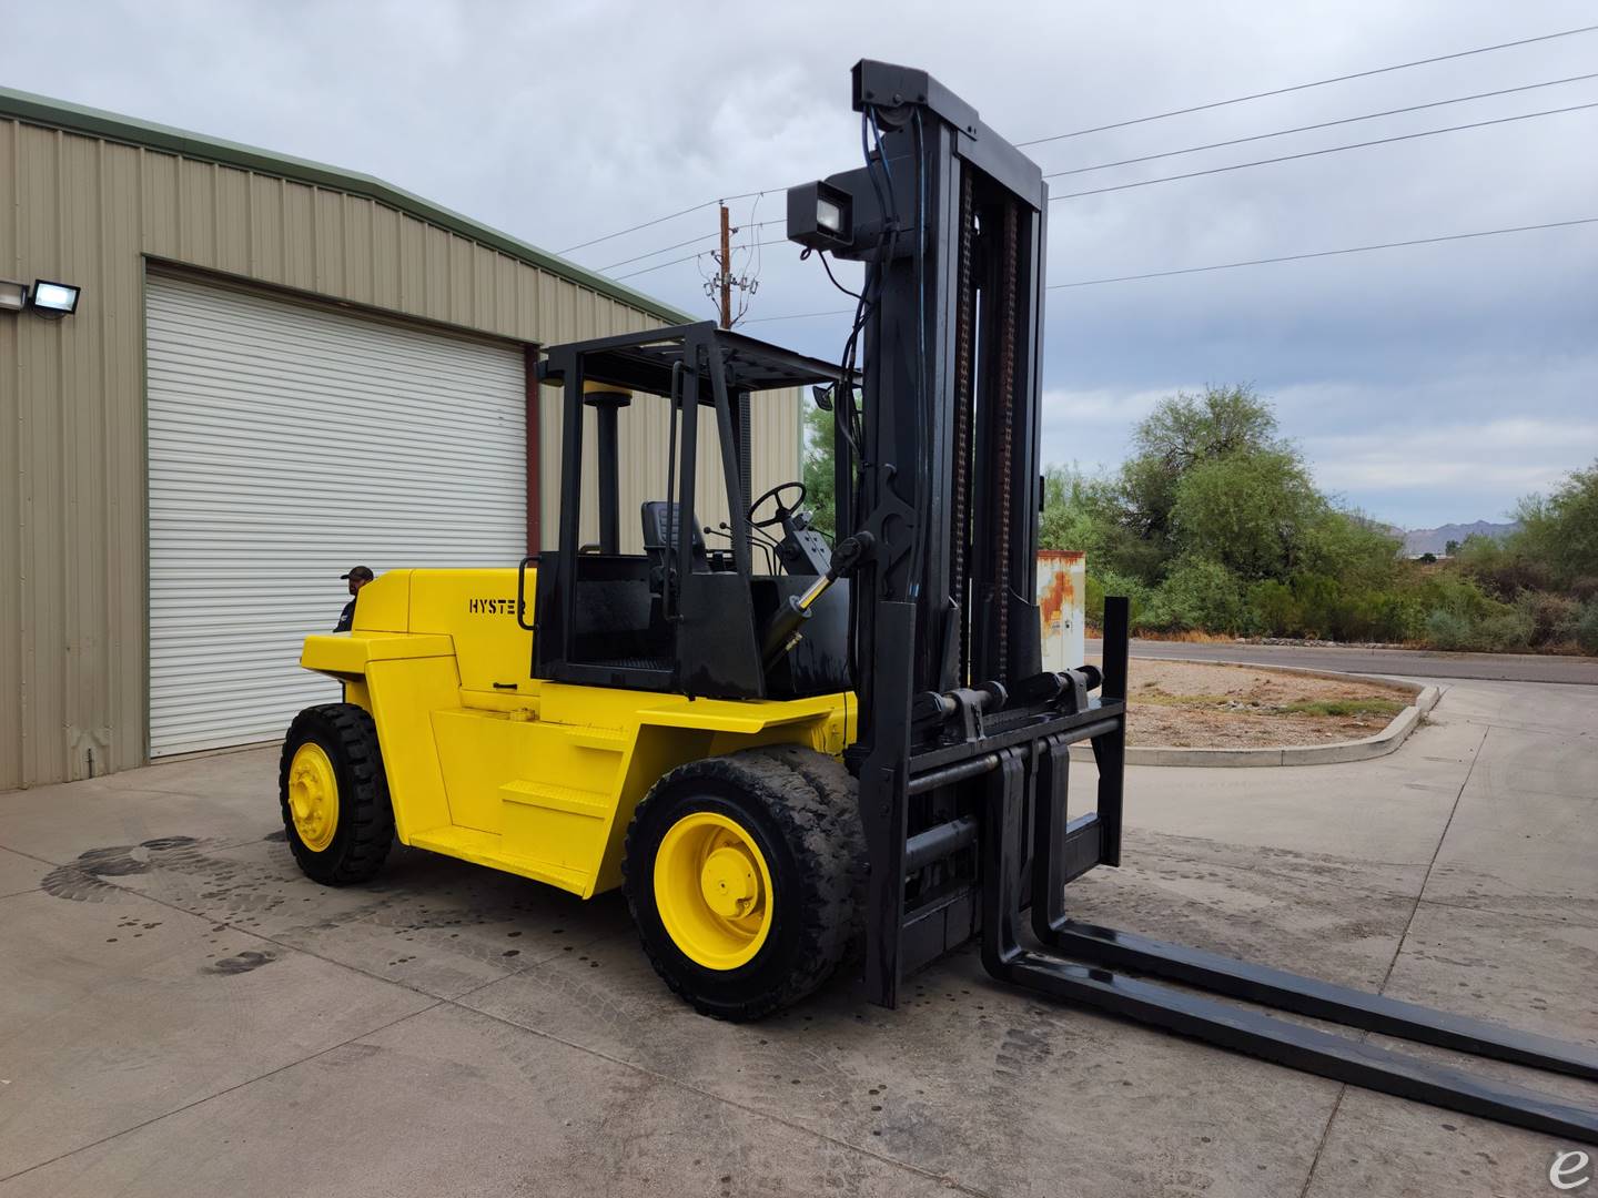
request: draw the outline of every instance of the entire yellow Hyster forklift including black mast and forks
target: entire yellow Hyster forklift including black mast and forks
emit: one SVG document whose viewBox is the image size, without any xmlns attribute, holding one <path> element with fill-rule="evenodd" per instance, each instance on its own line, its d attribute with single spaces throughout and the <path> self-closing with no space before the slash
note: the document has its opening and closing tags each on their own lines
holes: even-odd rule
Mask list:
<svg viewBox="0 0 1598 1198">
<path fill-rule="evenodd" d="M 1047 185 L 925 72 L 861 61 L 853 107 L 863 165 L 788 193 L 793 241 L 865 264 L 841 361 L 711 324 L 550 348 L 558 546 L 393 570 L 352 633 L 305 642 L 344 703 L 284 741 L 300 867 L 358 883 L 398 837 L 583 898 L 620 887 L 662 979 L 727 1019 L 845 960 L 893 1006 L 911 971 L 980 938 L 1013 986 L 1598 1142 L 1592 1109 L 1270 1008 L 1598 1080 L 1592 1048 L 1069 917 L 1067 883 L 1120 863 L 1128 642 L 1109 599 L 1103 666 L 1040 668 Z M 833 414 L 834 543 L 799 482 L 748 495 L 748 414 L 796 387 Z M 623 420 L 665 449 L 639 553 Z M 695 519 L 706 486 L 719 529 Z M 1096 762 L 1087 805 L 1074 743 Z"/>
</svg>

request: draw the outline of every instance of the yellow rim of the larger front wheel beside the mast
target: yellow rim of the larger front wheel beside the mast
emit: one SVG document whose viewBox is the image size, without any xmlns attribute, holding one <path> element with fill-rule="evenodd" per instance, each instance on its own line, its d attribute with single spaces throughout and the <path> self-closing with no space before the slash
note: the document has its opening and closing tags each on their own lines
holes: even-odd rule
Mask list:
<svg viewBox="0 0 1598 1198">
<path fill-rule="evenodd" d="M 772 871 L 754 839 L 716 811 L 678 819 L 655 853 L 655 909 L 682 954 L 737 970 L 772 930 Z"/>
</svg>

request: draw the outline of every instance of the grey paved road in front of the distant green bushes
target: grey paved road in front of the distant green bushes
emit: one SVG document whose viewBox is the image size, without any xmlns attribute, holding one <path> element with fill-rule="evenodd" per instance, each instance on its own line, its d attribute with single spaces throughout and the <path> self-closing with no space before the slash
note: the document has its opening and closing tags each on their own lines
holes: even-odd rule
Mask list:
<svg viewBox="0 0 1598 1198">
<path fill-rule="evenodd" d="M 1088 641 L 1088 657 L 1101 642 Z M 1405 677 L 1459 677 L 1488 682 L 1576 682 L 1598 685 L 1598 658 L 1547 657 L 1539 653 L 1437 653 L 1421 649 L 1328 649 L 1314 645 L 1189 644 L 1184 641 L 1133 641 L 1133 658 L 1192 658 L 1198 661 L 1248 661 L 1264 666 L 1338 669 L 1349 674 L 1401 674 Z"/>
</svg>

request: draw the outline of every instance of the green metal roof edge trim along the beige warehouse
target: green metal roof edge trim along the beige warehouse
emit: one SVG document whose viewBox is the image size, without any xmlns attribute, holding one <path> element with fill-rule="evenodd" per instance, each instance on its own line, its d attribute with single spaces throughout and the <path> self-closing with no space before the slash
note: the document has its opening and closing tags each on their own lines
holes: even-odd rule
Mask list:
<svg viewBox="0 0 1598 1198">
<path fill-rule="evenodd" d="M 326 163 L 313 163 L 308 158 L 294 158 L 286 153 L 259 150 L 254 145 L 240 145 L 238 142 L 222 141 L 221 137 L 206 137 L 205 134 L 189 133 L 187 129 L 174 129 L 168 125 L 139 121 L 131 117 L 120 117 L 115 112 L 88 109 L 81 104 L 69 104 L 67 101 L 35 96 L 27 91 L 14 91 L 11 88 L 0 88 L 0 117 L 11 117 L 19 121 L 27 121 L 29 125 L 43 125 L 53 129 L 85 133 L 91 137 L 104 137 L 126 145 L 144 145 L 152 150 L 182 155 L 184 158 L 238 166 L 246 171 L 272 174 L 281 179 L 292 179 L 296 182 L 313 184 L 336 192 L 360 195 L 368 200 L 376 200 L 380 204 L 396 208 L 401 212 L 409 212 L 411 216 L 420 217 L 422 220 L 438 225 L 439 228 L 460 233 L 462 236 L 479 241 L 484 246 L 492 246 L 494 249 L 521 259 L 523 262 L 539 267 L 540 270 L 547 270 L 551 275 L 559 275 L 561 278 L 567 278 L 572 283 L 590 288 L 601 296 L 609 296 L 620 303 L 641 308 L 652 316 L 658 316 L 668 324 L 687 324 L 695 319 L 689 313 L 673 308 L 670 303 L 662 303 L 641 291 L 622 286 L 604 275 L 596 275 L 594 272 L 585 270 L 574 262 L 567 262 L 558 254 L 539 249 L 537 246 L 529 246 L 526 241 L 519 241 L 510 233 L 502 233 L 500 230 L 479 224 L 478 220 L 462 216 L 460 212 L 452 212 L 447 208 L 441 208 L 433 201 L 412 195 L 404 188 L 395 187 L 393 184 L 385 184 L 382 179 L 374 179 L 369 174 L 345 171 L 337 166 L 328 166 Z"/>
</svg>

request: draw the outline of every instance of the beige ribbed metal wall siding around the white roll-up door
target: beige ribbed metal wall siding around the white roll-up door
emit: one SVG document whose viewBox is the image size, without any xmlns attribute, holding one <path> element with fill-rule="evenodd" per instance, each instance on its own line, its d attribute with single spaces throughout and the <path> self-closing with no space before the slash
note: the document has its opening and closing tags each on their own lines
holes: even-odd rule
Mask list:
<svg viewBox="0 0 1598 1198">
<path fill-rule="evenodd" d="M 524 342 L 658 323 L 376 200 L 0 117 L 0 276 L 83 288 L 0 316 L 0 789 L 145 760 L 145 257 Z M 756 428 L 756 489 L 794 476 L 793 409 Z"/>
</svg>

